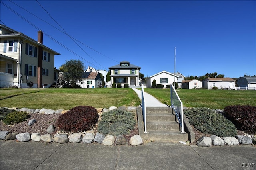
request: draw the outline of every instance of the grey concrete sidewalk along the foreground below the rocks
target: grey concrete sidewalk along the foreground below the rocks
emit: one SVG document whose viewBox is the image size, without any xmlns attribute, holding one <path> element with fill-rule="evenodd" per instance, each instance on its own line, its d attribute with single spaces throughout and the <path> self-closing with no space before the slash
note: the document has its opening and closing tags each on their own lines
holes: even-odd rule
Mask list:
<svg viewBox="0 0 256 170">
<path fill-rule="evenodd" d="M 1 141 L 1 170 L 252 170 L 252 145 L 198 147 L 148 142 L 105 146 L 98 143 Z M 249 167 L 250 165 L 250 167 Z"/>
</svg>

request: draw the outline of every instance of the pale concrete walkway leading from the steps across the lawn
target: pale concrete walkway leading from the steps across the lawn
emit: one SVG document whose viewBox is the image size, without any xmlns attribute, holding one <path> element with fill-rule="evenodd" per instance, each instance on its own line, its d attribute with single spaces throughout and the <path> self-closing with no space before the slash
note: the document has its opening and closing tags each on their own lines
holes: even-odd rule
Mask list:
<svg viewBox="0 0 256 170">
<path fill-rule="evenodd" d="M 137 94 L 138 97 L 141 99 L 141 90 L 138 90 L 136 88 L 132 88 Z M 154 96 L 144 92 L 145 98 L 146 98 L 146 107 L 169 107 L 166 104 L 162 104 L 157 100 Z"/>
</svg>

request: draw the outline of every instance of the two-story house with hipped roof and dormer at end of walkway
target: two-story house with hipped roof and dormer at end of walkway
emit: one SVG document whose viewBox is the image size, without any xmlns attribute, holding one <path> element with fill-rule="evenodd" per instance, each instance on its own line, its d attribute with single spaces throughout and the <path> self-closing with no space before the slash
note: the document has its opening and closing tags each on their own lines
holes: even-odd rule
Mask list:
<svg viewBox="0 0 256 170">
<path fill-rule="evenodd" d="M 111 85 L 113 82 L 122 84 L 128 84 L 129 87 L 139 86 L 139 72 L 140 67 L 130 64 L 129 61 L 121 61 L 120 64 L 109 67 Z"/>
</svg>

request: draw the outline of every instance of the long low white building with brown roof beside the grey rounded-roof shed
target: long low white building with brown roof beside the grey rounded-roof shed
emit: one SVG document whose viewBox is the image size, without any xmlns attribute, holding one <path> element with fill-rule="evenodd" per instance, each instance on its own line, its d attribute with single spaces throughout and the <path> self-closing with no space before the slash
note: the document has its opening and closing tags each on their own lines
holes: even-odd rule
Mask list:
<svg viewBox="0 0 256 170">
<path fill-rule="evenodd" d="M 235 81 L 232 78 L 206 78 L 202 82 L 202 87 L 206 89 L 212 89 L 213 87 L 235 89 Z"/>
</svg>

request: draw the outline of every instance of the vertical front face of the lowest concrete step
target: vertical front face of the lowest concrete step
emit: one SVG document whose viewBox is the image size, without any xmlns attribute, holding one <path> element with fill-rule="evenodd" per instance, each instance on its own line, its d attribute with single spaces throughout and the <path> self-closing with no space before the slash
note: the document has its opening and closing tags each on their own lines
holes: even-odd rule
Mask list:
<svg viewBox="0 0 256 170">
<path fill-rule="evenodd" d="M 172 142 L 178 142 L 178 141 L 186 141 L 188 140 L 188 134 L 149 134 L 144 133 L 143 135 L 144 140 L 153 140 L 153 141 L 172 141 Z"/>
</svg>

